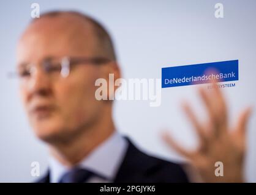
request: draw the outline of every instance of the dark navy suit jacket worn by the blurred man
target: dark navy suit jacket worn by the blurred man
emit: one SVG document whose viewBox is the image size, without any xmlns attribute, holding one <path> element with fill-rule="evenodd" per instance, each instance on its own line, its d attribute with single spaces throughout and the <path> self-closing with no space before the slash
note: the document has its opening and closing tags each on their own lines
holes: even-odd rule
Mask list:
<svg viewBox="0 0 256 195">
<path fill-rule="evenodd" d="M 114 180 L 115 183 L 189 182 L 181 165 L 151 157 L 128 140 L 128 149 Z M 37 182 L 48 183 L 49 172 Z"/>
</svg>

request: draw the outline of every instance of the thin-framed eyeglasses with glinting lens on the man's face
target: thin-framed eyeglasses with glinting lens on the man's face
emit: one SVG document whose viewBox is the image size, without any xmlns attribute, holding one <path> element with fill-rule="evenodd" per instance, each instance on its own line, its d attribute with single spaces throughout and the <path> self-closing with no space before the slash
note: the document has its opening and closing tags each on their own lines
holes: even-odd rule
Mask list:
<svg viewBox="0 0 256 195">
<path fill-rule="evenodd" d="M 51 78 L 62 77 L 66 78 L 70 74 L 70 70 L 75 65 L 103 65 L 110 62 L 110 59 L 105 57 L 62 57 L 62 58 L 47 58 L 40 63 L 42 69 L 47 76 Z M 17 76 L 21 80 L 29 79 L 32 74 L 37 71 L 36 65 L 21 64 L 18 66 L 17 73 L 11 73 L 10 76 Z"/>
</svg>

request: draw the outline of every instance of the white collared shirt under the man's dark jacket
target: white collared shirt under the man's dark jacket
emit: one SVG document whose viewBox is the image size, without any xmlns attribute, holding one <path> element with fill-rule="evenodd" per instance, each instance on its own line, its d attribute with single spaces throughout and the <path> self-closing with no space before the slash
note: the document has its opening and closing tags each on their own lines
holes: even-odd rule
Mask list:
<svg viewBox="0 0 256 195">
<path fill-rule="evenodd" d="M 127 141 L 118 133 L 114 132 L 107 140 L 94 149 L 78 166 L 88 169 L 101 177 L 92 176 L 88 179 L 93 182 L 113 182 L 127 151 Z M 69 171 L 69 168 L 50 157 L 50 183 L 57 183 L 61 177 Z"/>
</svg>

